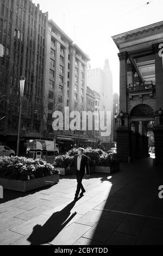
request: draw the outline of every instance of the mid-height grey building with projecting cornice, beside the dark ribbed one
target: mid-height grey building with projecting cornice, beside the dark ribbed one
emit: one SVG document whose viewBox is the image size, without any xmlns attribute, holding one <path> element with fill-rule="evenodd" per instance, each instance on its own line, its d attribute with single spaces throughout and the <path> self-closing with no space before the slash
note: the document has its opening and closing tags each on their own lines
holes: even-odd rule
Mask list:
<svg viewBox="0 0 163 256">
<path fill-rule="evenodd" d="M 52 114 L 69 107 L 70 112 L 86 110 L 86 78 L 89 57 L 53 21 L 48 22 L 44 127 L 49 139 L 57 136 L 62 151 L 84 140 L 83 131 L 53 131 Z M 43 135 L 45 136 L 45 135 Z"/>
</svg>

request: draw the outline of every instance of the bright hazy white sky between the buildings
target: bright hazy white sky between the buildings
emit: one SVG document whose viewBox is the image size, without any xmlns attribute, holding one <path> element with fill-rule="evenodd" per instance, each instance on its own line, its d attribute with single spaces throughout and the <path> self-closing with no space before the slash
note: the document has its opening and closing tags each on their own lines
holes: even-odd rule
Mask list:
<svg viewBox="0 0 163 256">
<path fill-rule="evenodd" d="M 89 55 L 91 68 L 109 59 L 113 90 L 119 93 L 118 48 L 111 36 L 163 20 L 163 0 L 34 0 L 49 19 Z"/>
</svg>

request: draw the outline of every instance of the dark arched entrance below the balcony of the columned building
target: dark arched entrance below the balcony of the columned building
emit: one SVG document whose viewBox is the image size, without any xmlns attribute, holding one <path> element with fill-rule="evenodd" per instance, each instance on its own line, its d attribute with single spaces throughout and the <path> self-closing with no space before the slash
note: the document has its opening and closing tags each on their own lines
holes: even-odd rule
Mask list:
<svg viewBox="0 0 163 256">
<path fill-rule="evenodd" d="M 146 104 L 136 105 L 131 109 L 129 115 L 124 115 L 123 119 L 126 125 L 121 125 L 117 129 L 117 155 L 120 161 L 149 156 L 149 133 L 154 138 L 152 131 L 153 108 Z"/>
</svg>

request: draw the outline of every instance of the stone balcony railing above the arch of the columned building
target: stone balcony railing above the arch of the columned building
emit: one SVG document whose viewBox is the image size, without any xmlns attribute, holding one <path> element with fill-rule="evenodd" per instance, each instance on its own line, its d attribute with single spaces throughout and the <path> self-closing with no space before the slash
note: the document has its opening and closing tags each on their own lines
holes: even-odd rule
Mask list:
<svg viewBox="0 0 163 256">
<path fill-rule="evenodd" d="M 127 87 L 128 92 L 135 92 L 135 91 L 153 91 L 155 89 L 155 85 L 153 84 L 152 81 L 147 81 L 147 82 L 137 82 L 137 83 L 129 83 Z"/>
</svg>

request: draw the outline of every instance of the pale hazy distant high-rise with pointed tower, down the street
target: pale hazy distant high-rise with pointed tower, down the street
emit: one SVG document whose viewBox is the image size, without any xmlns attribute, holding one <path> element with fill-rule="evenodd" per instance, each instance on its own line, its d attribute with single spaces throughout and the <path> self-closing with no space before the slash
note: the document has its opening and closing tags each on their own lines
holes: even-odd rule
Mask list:
<svg viewBox="0 0 163 256">
<path fill-rule="evenodd" d="M 95 89 L 100 95 L 100 111 L 111 112 L 112 122 L 112 73 L 109 67 L 109 60 L 105 60 L 104 69 L 88 69 L 87 70 L 87 86 L 91 89 Z M 112 136 L 112 131 L 111 131 Z M 103 143 L 110 143 L 111 137 L 102 137 Z M 109 145 L 108 145 L 109 147 Z M 107 147 L 106 147 L 107 148 Z"/>
</svg>

